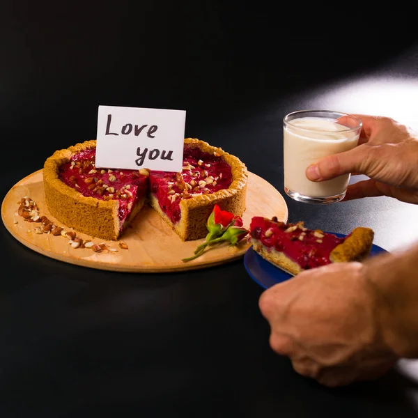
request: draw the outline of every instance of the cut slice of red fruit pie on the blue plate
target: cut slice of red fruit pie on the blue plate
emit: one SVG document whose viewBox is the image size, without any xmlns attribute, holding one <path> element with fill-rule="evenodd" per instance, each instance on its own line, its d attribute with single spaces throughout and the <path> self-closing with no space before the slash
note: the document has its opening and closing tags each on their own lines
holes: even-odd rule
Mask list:
<svg viewBox="0 0 418 418">
<path fill-rule="evenodd" d="M 360 226 L 339 238 L 307 229 L 304 222 L 277 222 L 276 217 L 253 217 L 249 229 L 253 249 L 293 275 L 330 263 L 363 261 L 369 256 L 374 236 L 373 230 Z"/>
</svg>

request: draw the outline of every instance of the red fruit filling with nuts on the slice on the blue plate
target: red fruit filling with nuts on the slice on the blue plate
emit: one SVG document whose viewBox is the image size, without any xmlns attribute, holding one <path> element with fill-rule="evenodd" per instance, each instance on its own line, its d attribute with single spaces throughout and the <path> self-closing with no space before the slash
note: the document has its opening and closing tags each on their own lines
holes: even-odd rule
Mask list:
<svg viewBox="0 0 418 418">
<path fill-rule="evenodd" d="M 304 270 L 330 264 L 330 253 L 346 238 L 306 229 L 302 222 L 284 224 L 265 217 L 253 217 L 251 237 L 267 249 L 283 252 Z"/>
</svg>

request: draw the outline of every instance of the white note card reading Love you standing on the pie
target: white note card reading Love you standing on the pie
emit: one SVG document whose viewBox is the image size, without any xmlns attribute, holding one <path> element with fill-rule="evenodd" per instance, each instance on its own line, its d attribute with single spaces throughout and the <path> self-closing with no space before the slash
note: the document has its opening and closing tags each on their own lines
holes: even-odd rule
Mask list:
<svg viewBox="0 0 418 418">
<path fill-rule="evenodd" d="M 182 171 L 185 110 L 99 106 L 95 165 Z"/>
</svg>

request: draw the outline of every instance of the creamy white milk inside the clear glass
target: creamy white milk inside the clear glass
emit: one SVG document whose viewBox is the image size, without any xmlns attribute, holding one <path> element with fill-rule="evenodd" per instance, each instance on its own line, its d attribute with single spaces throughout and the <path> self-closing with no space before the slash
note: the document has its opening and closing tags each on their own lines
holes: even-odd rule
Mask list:
<svg viewBox="0 0 418 418">
<path fill-rule="evenodd" d="M 310 197 L 336 196 L 345 192 L 350 174 L 316 183 L 307 179 L 305 170 L 326 155 L 357 146 L 359 130 L 341 132 L 348 127 L 335 123 L 332 118 L 298 118 L 290 123 L 284 127 L 284 186 Z"/>
</svg>

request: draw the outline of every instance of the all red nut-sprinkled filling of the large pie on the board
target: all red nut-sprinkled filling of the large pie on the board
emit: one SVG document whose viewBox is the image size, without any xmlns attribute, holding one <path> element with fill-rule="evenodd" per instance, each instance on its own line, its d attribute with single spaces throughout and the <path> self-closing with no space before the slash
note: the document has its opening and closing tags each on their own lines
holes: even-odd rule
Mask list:
<svg viewBox="0 0 418 418">
<path fill-rule="evenodd" d="M 148 190 L 146 176 L 135 170 L 111 170 L 95 167 L 95 148 L 72 155 L 59 168 L 59 178 L 83 196 L 119 201 L 121 230 L 134 206 Z M 196 194 L 227 189 L 232 183 L 231 167 L 221 156 L 203 153 L 185 146 L 183 173 L 151 171 L 150 191 L 171 222 L 180 221 L 180 201 Z"/>
</svg>

